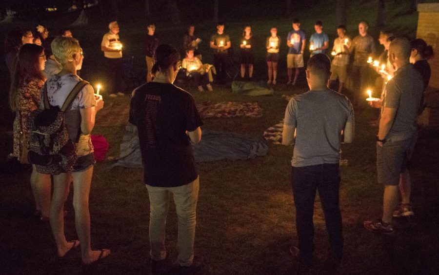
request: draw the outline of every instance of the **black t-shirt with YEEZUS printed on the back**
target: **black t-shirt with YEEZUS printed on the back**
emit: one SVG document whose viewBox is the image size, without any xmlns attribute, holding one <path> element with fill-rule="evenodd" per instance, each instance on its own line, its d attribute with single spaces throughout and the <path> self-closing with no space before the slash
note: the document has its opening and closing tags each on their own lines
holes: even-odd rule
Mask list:
<svg viewBox="0 0 439 275">
<path fill-rule="evenodd" d="M 143 84 L 131 96 L 129 122 L 138 127 L 145 184 L 177 187 L 198 177 L 186 131 L 203 122 L 192 95 L 170 83 Z"/>
</svg>

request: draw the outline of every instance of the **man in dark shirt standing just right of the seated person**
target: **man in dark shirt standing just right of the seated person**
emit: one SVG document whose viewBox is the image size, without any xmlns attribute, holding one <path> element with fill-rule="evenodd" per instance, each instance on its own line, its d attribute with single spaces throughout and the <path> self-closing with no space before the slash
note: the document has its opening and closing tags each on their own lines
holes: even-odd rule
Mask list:
<svg viewBox="0 0 439 275">
<path fill-rule="evenodd" d="M 228 55 L 230 47 L 230 37 L 228 34 L 224 34 L 224 23 L 219 22 L 217 24 L 217 33 L 210 38 L 210 48 L 215 51 L 214 65 L 217 71 L 217 79 L 220 83 L 225 82 L 226 71 L 230 63 Z"/>
</svg>

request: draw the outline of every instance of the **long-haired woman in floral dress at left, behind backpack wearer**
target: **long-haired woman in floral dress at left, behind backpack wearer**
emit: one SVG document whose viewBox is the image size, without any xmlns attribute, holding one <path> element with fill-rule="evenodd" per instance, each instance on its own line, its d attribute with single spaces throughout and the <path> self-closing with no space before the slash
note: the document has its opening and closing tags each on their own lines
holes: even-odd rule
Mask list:
<svg viewBox="0 0 439 275">
<path fill-rule="evenodd" d="M 30 112 L 40 105 L 40 89 L 46 80 L 42 74 L 46 56 L 44 48 L 36 44 L 21 46 L 12 74 L 9 104 L 12 111 L 17 113 L 14 120 L 14 151 L 13 155 L 22 162 L 26 162 L 25 155 L 22 159 L 23 140 L 28 140 L 29 130 L 27 119 Z M 35 165 L 32 167 L 31 186 L 35 197 L 35 215 L 42 221 L 48 221 L 50 197 L 50 175 L 37 172 Z"/>
</svg>

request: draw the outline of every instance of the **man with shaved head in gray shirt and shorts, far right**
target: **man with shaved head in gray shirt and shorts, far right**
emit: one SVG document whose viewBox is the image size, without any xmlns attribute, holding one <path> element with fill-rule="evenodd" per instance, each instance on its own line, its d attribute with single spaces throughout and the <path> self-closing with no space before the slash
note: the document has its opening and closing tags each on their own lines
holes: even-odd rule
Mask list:
<svg viewBox="0 0 439 275">
<path fill-rule="evenodd" d="M 397 38 L 390 43 L 389 58 L 396 72 L 384 88 L 377 136 L 378 182 L 384 184 L 383 213 L 381 219 L 364 221 L 367 230 L 383 234 L 394 233 L 392 216 L 398 204 L 399 177 L 406 172 L 412 153 L 423 93 L 422 77 L 410 64 L 410 53 L 408 39 Z"/>
</svg>

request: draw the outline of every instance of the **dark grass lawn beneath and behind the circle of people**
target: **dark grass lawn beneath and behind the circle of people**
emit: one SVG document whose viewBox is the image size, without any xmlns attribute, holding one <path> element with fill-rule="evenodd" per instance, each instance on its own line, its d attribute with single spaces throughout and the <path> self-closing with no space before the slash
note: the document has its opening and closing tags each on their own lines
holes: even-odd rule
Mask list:
<svg viewBox="0 0 439 275">
<path fill-rule="evenodd" d="M 374 20 L 374 5 L 368 1 L 362 3 L 359 12 L 351 8 L 348 13 L 350 30 L 355 29 L 360 15 L 369 21 Z M 326 8 L 325 5 L 319 5 L 312 12 L 298 12 L 308 36 L 317 20 L 315 14 L 325 14 L 319 19 L 327 26 L 330 39 L 335 38 L 335 33 L 330 32 L 329 27 L 335 24 L 335 13 L 325 12 Z M 399 16 L 395 21 L 399 23 L 389 24 L 392 30 L 404 30 L 404 34 L 415 36 L 416 15 Z M 55 20 L 47 21 L 49 30 L 59 27 L 59 23 L 55 23 Z M 235 41 L 239 38 L 245 23 L 235 20 L 226 25 L 232 43 L 234 38 Z M 272 24 L 278 26 L 282 39 L 291 28 L 289 20 L 279 18 L 250 21 L 250 24 L 262 44 Z M 201 48 L 204 62 L 213 59 L 207 41 L 214 27 L 211 23 L 197 25 L 197 31 L 204 40 Z M 8 25 L 0 25 L 0 30 L 7 28 Z M 103 21 L 97 21 L 96 28 L 72 29 L 86 55 L 82 76 L 92 83 L 101 79 L 100 64 L 103 58 L 99 45 L 105 28 Z M 143 33 L 139 22 L 126 18 L 122 20 L 120 36 L 124 43 L 124 55 L 135 57 L 140 76 L 145 73 Z M 158 27 L 162 41 L 178 46 L 183 33 L 184 26 Z M 351 31 L 352 37 L 354 33 Z M 286 47 L 283 47 L 281 57 L 285 56 L 285 51 Z M 264 79 L 266 68 L 263 49 L 258 49 L 256 54 L 255 77 Z M 279 79 L 283 80 L 285 60 L 281 60 Z M 273 96 L 257 98 L 233 96 L 228 87 L 218 85 L 214 85 L 214 90 L 214 93 L 199 93 L 195 89 L 188 89 L 196 101 L 257 101 L 263 109 L 263 116 L 205 119 L 203 129 L 259 137 L 264 129 L 283 118 L 287 101 L 281 95 L 305 92 L 307 86 L 304 81 L 294 88 L 278 84 Z M 105 91 L 103 93 L 107 106 L 115 100 L 128 104 L 128 97 L 114 99 L 106 97 Z M 438 131 L 423 129 L 420 133 L 412 169 L 415 218 L 395 221 L 396 234 L 393 236 L 377 236 L 362 226 L 364 219 L 378 217 L 382 206 L 383 187 L 377 183 L 375 166 L 377 129 L 368 124 L 373 117 L 370 109 L 356 110 L 355 141 L 342 146 L 342 157 L 348 159 L 348 165 L 341 167 L 340 207 L 345 237 L 345 258 L 341 272 L 435 274 L 439 270 Z M 110 143 L 107 156 L 117 157 L 123 132 L 124 126 L 97 126 L 93 134 L 104 135 Z M 265 157 L 247 161 L 198 163 L 200 196 L 195 249 L 196 255 L 203 258 L 199 274 L 297 274 L 298 266 L 287 253 L 296 240 L 295 209 L 290 185 L 293 148 L 271 143 L 268 146 Z M 5 151 L 4 148 L 2 151 Z M 57 259 L 49 225 L 30 217 L 34 202 L 29 175 L 27 170 L 2 171 L 0 174 L 0 274 L 148 274 L 149 200 L 142 183 L 141 169 L 110 169 L 105 162 L 95 166 L 90 194 L 92 247 L 110 248 L 112 254 L 86 270 L 81 270 L 79 250 L 65 259 Z M 72 194 L 66 202 L 67 239 L 77 238 L 71 201 Z M 311 274 L 327 274 L 323 262 L 329 247 L 318 197 L 314 222 L 316 265 Z M 175 207 L 171 206 L 166 232 L 169 264 L 177 259 L 177 226 Z"/>
</svg>

